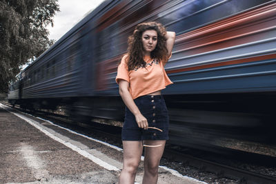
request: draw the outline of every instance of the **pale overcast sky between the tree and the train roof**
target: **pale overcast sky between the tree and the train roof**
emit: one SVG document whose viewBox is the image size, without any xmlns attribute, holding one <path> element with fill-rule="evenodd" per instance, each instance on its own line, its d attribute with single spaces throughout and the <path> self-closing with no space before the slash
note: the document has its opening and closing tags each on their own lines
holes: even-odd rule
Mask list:
<svg viewBox="0 0 276 184">
<path fill-rule="evenodd" d="M 103 0 L 59 0 L 59 10 L 54 17 L 54 27 L 48 26 L 49 39 L 60 39 L 88 12 L 94 10 Z"/>
</svg>

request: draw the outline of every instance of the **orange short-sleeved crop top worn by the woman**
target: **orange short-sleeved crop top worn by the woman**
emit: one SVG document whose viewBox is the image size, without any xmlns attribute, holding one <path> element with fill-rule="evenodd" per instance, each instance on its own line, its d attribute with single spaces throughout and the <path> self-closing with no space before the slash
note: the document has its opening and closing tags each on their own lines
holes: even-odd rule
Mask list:
<svg viewBox="0 0 276 184">
<path fill-rule="evenodd" d="M 118 66 L 116 82 L 118 83 L 119 79 L 128 81 L 132 99 L 162 90 L 172 84 L 165 72 L 163 62 L 146 56 L 144 57 L 144 60 L 147 61 L 146 68 L 139 67 L 128 71 L 126 57 L 127 55 L 124 55 Z"/>
</svg>

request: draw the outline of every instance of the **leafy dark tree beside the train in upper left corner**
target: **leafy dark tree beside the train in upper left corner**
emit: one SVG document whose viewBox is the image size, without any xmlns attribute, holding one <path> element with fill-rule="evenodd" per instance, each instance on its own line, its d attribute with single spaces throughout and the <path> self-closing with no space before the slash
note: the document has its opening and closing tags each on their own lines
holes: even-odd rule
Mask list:
<svg viewBox="0 0 276 184">
<path fill-rule="evenodd" d="M 46 26 L 53 26 L 58 0 L 0 0 L 0 92 L 19 73 L 20 65 L 38 57 L 54 43 Z"/>
</svg>

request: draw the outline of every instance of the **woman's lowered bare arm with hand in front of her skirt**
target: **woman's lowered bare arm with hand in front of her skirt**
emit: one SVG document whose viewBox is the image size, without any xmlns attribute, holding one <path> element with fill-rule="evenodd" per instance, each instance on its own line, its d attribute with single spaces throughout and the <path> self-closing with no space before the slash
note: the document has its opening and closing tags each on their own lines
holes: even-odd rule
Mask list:
<svg viewBox="0 0 276 184">
<path fill-rule="evenodd" d="M 137 105 L 133 101 L 132 96 L 129 92 L 129 83 L 128 83 L 128 81 L 125 81 L 125 80 L 120 80 L 119 81 L 119 94 L 121 95 L 121 99 L 123 99 L 123 101 L 126 104 L 126 106 L 128 107 L 128 109 L 135 116 L 138 127 L 147 129 L 148 128 L 148 121 L 141 114 L 141 112 L 138 109 Z"/>
</svg>

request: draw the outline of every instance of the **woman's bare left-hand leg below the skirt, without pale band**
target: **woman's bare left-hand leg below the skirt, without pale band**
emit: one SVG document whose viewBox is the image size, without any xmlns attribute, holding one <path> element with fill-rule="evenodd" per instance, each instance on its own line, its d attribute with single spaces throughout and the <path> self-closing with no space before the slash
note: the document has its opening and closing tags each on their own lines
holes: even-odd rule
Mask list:
<svg viewBox="0 0 276 184">
<path fill-rule="evenodd" d="M 130 184 L 135 182 L 137 168 L 141 161 L 143 145 L 141 141 L 123 141 L 124 162 L 123 170 L 119 177 L 119 184 Z"/>
</svg>

